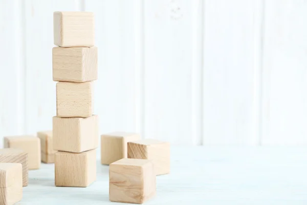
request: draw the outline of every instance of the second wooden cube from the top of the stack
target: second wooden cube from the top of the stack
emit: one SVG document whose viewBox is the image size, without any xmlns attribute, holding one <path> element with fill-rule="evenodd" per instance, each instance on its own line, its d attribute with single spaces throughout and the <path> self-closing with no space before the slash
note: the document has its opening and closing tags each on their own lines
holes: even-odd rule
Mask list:
<svg viewBox="0 0 307 205">
<path fill-rule="evenodd" d="M 83 83 L 97 79 L 97 47 L 52 49 L 53 80 Z"/>
</svg>

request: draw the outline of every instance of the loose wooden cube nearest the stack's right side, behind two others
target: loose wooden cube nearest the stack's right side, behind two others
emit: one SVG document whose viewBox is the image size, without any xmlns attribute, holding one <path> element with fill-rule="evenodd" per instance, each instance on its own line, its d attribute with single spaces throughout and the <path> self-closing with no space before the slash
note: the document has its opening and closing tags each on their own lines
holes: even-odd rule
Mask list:
<svg viewBox="0 0 307 205">
<path fill-rule="evenodd" d="M 136 133 L 113 132 L 101 135 L 101 163 L 110 163 L 127 158 L 127 142 L 140 139 Z"/>
</svg>

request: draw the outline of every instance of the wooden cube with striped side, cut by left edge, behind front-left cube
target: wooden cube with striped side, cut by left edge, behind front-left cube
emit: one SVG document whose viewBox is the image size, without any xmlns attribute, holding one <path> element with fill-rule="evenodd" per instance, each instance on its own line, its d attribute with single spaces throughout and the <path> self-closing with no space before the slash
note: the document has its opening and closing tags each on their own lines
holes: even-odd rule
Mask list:
<svg viewBox="0 0 307 205">
<path fill-rule="evenodd" d="M 23 167 L 23 186 L 28 186 L 28 153 L 15 148 L 0 149 L 0 163 L 21 163 Z"/>
</svg>

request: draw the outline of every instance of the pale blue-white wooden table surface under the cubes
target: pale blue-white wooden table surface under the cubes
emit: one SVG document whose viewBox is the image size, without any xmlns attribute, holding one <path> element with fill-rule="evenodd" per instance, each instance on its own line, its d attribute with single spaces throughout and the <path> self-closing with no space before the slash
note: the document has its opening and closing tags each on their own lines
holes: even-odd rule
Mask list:
<svg viewBox="0 0 307 205">
<path fill-rule="evenodd" d="M 171 147 L 171 173 L 144 204 L 307 204 L 305 147 Z M 123 204 L 108 200 L 108 166 L 97 157 L 87 188 L 54 186 L 54 165 L 29 172 L 18 204 Z"/>
</svg>

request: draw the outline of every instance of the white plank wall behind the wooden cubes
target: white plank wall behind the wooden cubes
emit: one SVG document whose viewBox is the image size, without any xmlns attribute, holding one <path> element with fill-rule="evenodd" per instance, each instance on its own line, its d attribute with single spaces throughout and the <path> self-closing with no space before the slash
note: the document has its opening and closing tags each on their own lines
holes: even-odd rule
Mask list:
<svg viewBox="0 0 307 205">
<path fill-rule="evenodd" d="M 96 15 L 100 133 L 307 144 L 306 1 L 0 3 L 0 137 L 52 128 L 53 12 L 85 10 Z"/>
</svg>

